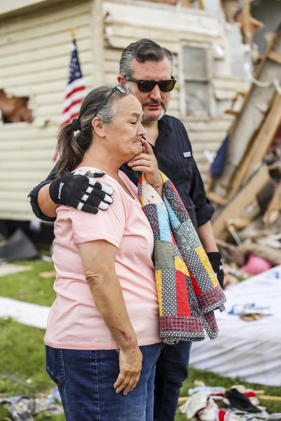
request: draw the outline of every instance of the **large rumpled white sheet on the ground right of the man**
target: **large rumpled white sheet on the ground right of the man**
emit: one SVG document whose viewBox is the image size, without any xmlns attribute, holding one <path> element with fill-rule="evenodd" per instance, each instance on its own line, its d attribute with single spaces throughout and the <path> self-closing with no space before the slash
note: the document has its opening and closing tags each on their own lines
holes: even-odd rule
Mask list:
<svg viewBox="0 0 281 421">
<path fill-rule="evenodd" d="M 219 335 L 194 342 L 190 364 L 222 376 L 281 386 L 281 265 L 225 289 L 226 312 L 215 312 Z M 234 304 L 256 303 L 273 313 L 246 322 L 227 314 Z"/>
</svg>

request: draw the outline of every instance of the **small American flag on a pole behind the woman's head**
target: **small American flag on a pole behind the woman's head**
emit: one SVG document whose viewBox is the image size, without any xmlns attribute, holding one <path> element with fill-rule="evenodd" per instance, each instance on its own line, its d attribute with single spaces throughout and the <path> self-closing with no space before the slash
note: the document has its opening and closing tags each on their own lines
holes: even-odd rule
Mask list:
<svg viewBox="0 0 281 421">
<path fill-rule="evenodd" d="M 80 69 L 75 40 L 72 42 L 71 50 L 70 71 L 67 87 L 65 88 L 64 110 L 61 124 L 70 123 L 73 118 L 78 116 L 80 102 L 87 93 L 86 83 Z"/>
</svg>

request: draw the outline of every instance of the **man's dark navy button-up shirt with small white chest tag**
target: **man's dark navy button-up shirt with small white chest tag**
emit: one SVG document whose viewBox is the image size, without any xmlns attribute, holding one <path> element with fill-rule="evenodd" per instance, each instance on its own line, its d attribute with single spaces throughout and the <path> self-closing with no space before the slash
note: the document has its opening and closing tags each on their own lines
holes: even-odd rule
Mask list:
<svg viewBox="0 0 281 421">
<path fill-rule="evenodd" d="M 158 168 L 176 187 L 190 219 L 195 229 L 197 229 L 198 226 L 205 224 L 211 219 L 214 208 L 206 198 L 203 181 L 192 155 L 187 132 L 184 125 L 177 118 L 169 115 L 165 115 L 159 120 L 158 127 L 159 136 L 155 147 L 152 147 L 158 162 Z M 120 170 L 134 184 L 138 184 L 141 176 L 139 171 L 134 171 L 127 164 L 123 164 Z M 41 187 L 55 179 L 55 173 L 56 166 L 47 179 L 35 187 L 31 193 L 32 210 L 43 221 L 55 221 L 55 218 L 48 218 L 48 216 L 43 215 L 37 203 L 37 195 Z"/>
</svg>

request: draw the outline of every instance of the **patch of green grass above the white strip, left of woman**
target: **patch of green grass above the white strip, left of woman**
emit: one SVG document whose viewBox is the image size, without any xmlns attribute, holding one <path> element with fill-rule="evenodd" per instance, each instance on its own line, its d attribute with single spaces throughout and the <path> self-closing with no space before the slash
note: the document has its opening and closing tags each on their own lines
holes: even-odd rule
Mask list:
<svg viewBox="0 0 281 421">
<path fill-rule="evenodd" d="M 32 270 L 0 277 L 0 296 L 28 303 L 51 306 L 56 298 L 53 285 L 55 277 L 40 278 L 40 272 L 54 270 L 53 262 L 16 261 L 16 264 L 32 266 Z"/>
</svg>

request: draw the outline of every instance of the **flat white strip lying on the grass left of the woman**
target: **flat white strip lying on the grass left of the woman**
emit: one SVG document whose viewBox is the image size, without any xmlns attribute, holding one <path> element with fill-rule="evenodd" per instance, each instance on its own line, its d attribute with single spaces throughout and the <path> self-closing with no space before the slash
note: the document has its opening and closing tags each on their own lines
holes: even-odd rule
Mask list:
<svg viewBox="0 0 281 421">
<path fill-rule="evenodd" d="M 51 307 L 0 297 L 0 318 L 16 320 L 24 325 L 46 329 Z"/>
</svg>

